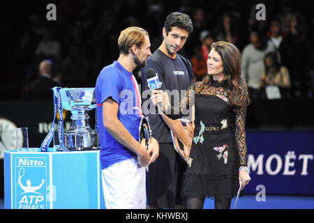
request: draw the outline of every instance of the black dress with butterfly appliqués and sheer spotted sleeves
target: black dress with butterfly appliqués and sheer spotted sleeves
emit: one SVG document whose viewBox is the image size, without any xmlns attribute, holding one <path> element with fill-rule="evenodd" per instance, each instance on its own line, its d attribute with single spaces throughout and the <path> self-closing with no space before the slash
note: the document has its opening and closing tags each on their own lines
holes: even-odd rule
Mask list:
<svg viewBox="0 0 314 223">
<path fill-rule="evenodd" d="M 239 97 L 243 106 L 230 106 L 228 91 L 222 83 L 197 82 L 180 102 L 180 109 L 186 107 L 191 98 L 195 105 L 195 130 L 191 162 L 184 176 L 184 197 L 227 199 L 237 196 L 239 167 L 246 166 L 247 97 L 243 90 Z M 244 190 L 240 196 L 243 194 Z"/>
</svg>

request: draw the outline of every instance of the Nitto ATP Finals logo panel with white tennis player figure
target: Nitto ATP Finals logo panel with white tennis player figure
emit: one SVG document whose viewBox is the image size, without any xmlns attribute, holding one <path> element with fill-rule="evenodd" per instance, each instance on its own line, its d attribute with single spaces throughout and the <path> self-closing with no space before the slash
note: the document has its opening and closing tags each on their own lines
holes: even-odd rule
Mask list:
<svg viewBox="0 0 314 223">
<path fill-rule="evenodd" d="M 15 208 L 46 209 L 47 162 L 45 157 L 17 157 L 14 185 Z"/>
</svg>

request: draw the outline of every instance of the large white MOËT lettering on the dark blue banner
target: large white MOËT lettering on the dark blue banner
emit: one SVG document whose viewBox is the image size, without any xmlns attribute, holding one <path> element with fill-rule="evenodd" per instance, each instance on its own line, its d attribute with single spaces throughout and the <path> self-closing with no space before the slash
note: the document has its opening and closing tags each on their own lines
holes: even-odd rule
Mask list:
<svg viewBox="0 0 314 223">
<path fill-rule="evenodd" d="M 274 176 L 278 174 L 283 165 L 283 175 L 285 176 L 292 176 L 295 175 L 297 172 L 297 169 L 295 169 L 294 164 L 297 160 L 302 161 L 302 169 L 301 169 L 301 176 L 307 176 L 308 175 L 308 160 L 313 160 L 313 154 L 300 154 L 297 158 L 297 155 L 294 151 L 287 151 L 287 154 L 284 158 L 284 164 L 283 164 L 283 158 L 278 154 L 272 154 L 269 157 L 267 157 L 267 160 L 265 162 L 265 171 L 267 174 Z M 273 162 L 276 163 L 276 167 L 271 169 L 271 164 Z M 257 155 L 257 158 L 255 159 L 253 154 L 248 154 L 248 169 L 255 172 L 257 175 L 263 175 L 263 166 L 264 164 L 264 154 Z M 274 165 L 274 164 L 273 164 Z"/>
</svg>

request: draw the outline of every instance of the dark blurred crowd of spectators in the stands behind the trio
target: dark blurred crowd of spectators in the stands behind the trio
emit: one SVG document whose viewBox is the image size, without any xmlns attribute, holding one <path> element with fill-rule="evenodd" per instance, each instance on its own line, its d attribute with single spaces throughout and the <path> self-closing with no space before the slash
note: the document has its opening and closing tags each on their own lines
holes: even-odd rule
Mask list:
<svg viewBox="0 0 314 223">
<path fill-rule="evenodd" d="M 314 19 L 297 0 L 59 0 L 14 1 L 3 14 L 1 100 L 50 99 L 47 86 L 91 87 L 119 56 L 117 38 L 128 26 L 149 32 L 151 52 L 162 42 L 165 17 L 187 13 L 194 30 L 180 54 L 193 64 L 195 81 L 207 74 L 211 43 L 234 43 L 253 100 L 313 98 Z M 46 18 L 48 3 L 57 20 Z M 256 20 L 257 3 L 266 20 Z M 140 71 L 135 70 L 140 82 Z M 51 96 L 50 96 L 51 95 Z"/>
</svg>

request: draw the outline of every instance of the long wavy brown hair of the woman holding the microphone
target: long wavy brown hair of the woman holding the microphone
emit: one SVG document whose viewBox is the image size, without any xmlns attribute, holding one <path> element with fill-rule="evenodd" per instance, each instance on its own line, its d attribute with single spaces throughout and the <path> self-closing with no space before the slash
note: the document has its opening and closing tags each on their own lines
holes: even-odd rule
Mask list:
<svg viewBox="0 0 314 223">
<path fill-rule="evenodd" d="M 239 49 L 232 43 L 218 41 L 211 45 L 211 49 L 215 49 L 223 61 L 223 87 L 227 89 L 229 105 L 244 106 L 241 95 L 248 92 L 246 81 L 241 77 L 241 53 Z M 202 79 L 203 84 L 211 84 L 212 75 L 207 75 Z M 245 103 L 248 103 L 246 97 Z"/>
</svg>

